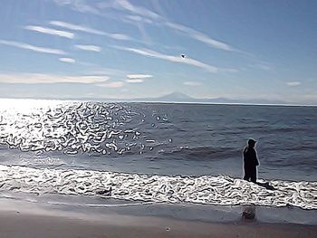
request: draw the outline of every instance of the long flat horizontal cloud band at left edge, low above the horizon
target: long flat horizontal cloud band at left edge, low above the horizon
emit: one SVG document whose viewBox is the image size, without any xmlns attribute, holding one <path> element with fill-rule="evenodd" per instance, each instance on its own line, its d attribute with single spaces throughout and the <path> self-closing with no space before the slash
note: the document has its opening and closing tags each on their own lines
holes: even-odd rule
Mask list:
<svg viewBox="0 0 317 238">
<path fill-rule="evenodd" d="M 0 82 L 2 83 L 101 83 L 108 81 L 109 77 L 105 75 L 58 75 L 43 73 L 1 73 Z"/>
</svg>

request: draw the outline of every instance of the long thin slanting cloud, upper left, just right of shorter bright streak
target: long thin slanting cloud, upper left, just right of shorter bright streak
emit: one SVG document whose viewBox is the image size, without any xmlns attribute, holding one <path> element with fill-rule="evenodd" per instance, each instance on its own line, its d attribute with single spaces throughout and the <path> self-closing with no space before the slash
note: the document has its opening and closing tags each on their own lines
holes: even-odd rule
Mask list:
<svg viewBox="0 0 317 238">
<path fill-rule="evenodd" d="M 94 28 L 91 28 L 89 26 L 84 26 L 80 24 L 70 24 L 70 23 L 65 23 L 61 21 L 51 21 L 50 24 L 53 24 L 54 26 L 59 26 L 62 28 L 66 28 L 72 31 L 79 31 L 83 33 L 92 33 L 92 34 L 98 34 L 98 35 L 104 35 L 109 38 L 115 39 L 115 40 L 120 40 L 120 41 L 130 41 L 132 38 L 129 35 L 122 34 L 122 33 L 106 33 Z"/>
</svg>

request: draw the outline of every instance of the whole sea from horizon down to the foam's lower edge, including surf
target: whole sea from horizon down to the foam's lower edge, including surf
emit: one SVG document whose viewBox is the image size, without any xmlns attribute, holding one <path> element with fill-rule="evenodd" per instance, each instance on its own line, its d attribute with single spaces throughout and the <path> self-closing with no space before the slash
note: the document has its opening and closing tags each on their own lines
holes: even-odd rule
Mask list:
<svg viewBox="0 0 317 238">
<path fill-rule="evenodd" d="M 0 192 L 317 209 L 316 107 L 0 100 Z M 242 180 L 257 140 L 258 179 Z"/>
</svg>

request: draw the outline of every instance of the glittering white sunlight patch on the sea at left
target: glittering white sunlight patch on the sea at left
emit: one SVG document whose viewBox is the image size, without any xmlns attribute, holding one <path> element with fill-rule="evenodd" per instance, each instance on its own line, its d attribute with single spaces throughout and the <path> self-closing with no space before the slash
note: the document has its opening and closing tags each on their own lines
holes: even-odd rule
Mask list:
<svg viewBox="0 0 317 238">
<path fill-rule="evenodd" d="M 2 105 L 0 143 L 37 154 L 59 150 L 70 155 L 79 152 L 121 155 L 145 149 L 136 127 L 141 115 L 129 105 L 44 102 L 17 100 Z M 136 116 L 139 118 L 133 121 Z"/>
</svg>

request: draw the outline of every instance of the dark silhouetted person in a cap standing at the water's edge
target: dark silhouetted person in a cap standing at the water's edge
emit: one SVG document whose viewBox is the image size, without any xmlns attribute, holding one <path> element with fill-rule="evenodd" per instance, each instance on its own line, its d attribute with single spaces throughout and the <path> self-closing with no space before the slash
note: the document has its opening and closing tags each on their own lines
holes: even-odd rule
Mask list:
<svg viewBox="0 0 317 238">
<path fill-rule="evenodd" d="M 255 151 L 256 141 L 253 138 L 250 138 L 247 141 L 247 146 L 244 148 L 244 168 L 246 181 L 251 181 L 256 183 L 256 167 L 259 165 L 259 161 L 256 157 Z"/>
</svg>

